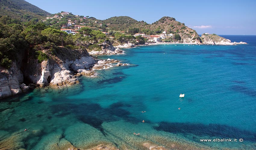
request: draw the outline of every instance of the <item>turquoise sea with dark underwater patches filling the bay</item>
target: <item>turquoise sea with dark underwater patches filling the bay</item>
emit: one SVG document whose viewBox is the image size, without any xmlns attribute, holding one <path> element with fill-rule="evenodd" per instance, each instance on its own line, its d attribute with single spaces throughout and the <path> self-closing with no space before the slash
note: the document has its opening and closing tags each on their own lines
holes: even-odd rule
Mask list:
<svg viewBox="0 0 256 150">
<path fill-rule="evenodd" d="M 120 150 L 146 149 L 145 143 L 256 149 L 256 36 L 222 36 L 248 44 L 125 49 L 125 55 L 100 58 L 130 66 L 97 70 L 98 77 L 81 77 L 72 88 L 35 89 L 1 100 L 0 144 L 8 140 L 32 150 L 67 141 L 79 149 L 99 143 Z M 223 138 L 237 141 L 200 141 Z"/>
</svg>

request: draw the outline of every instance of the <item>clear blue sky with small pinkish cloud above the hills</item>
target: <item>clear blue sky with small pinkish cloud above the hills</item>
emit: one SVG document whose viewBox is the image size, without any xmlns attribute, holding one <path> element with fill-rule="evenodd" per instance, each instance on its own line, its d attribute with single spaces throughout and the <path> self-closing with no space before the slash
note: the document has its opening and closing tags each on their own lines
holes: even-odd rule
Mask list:
<svg viewBox="0 0 256 150">
<path fill-rule="evenodd" d="M 129 16 L 153 23 L 163 16 L 174 17 L 198 34 L 256 35 L 255 0 L 26 0 L 49 12 L 108 19 Z"/>
</svg>

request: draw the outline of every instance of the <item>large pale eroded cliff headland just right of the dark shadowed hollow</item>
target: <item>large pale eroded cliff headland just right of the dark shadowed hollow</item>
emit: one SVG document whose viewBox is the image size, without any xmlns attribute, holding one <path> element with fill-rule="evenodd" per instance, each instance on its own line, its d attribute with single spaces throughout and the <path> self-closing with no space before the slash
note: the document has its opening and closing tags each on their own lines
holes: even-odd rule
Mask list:
<svg viewBox="0 0 256 150">
<path fill-rule="evenodd" d="M 48 54 L 47 52 L 45 52 Z M 49 59 L 41 64 L 30 61 L 31 67 L 25 72 L 25 76 L 40 86 L 50 85 L 54 88 L 67 87 L 80 82 L 75 74 L 92 76 L 94 73 L 86 71 L 95 64 L 95 59 L 89 56 L 85 50 L 72 50 L 59 47 L 55 55 L 49 55 Z"/>
</svg>

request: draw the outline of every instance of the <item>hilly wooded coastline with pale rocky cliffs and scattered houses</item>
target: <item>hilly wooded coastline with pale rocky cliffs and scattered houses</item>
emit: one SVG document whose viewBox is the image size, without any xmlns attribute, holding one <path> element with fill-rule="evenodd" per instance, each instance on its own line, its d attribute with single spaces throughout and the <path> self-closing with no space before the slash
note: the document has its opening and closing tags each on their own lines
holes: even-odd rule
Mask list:
<svg viewBox="0 0 256 150">
<path fill-rule="evenodd" d="M 122 54 L 119 48 L 147 43 L 231 45 L 215 34 L 201 37 L 184 23 L 164 16 L 148 24 L 128 16 L 99 20 L 61 11 L 50 14 L 23 0 L 3 0 L 0 13 L 0 99 L 38 86 L 79 84 L 77 76 L 117 66 L 119 60 L 95 55 Z M 94 55 L 94 56 L 92 56 Z"/>
</svg>

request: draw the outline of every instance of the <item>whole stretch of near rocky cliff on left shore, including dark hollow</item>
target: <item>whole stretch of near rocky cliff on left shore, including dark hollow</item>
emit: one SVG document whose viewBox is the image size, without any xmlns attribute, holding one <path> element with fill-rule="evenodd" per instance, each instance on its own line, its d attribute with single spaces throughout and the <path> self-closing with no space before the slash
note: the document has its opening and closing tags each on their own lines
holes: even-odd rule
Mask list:
<svg viewBox="0 0 256 150">
<path fill-rule="evenodd" d="M 17 67 L 17 62 L 13 63 L 10 69 L 0 67 L 0 99 L 27 91 L 29 86 L 26 86 L 23 80 L 42 87 L 50 85 L 61 88 L 78 84 L 77 74 L 94 75 L 90 68 L 95 64 L 95 59 L 89 56 L 86 50 L 58 47 L 54 54 L 50 50 L 42 52 L 48 55 L 49 59 L 41 63 L 31 56 L 26 64 L 20 66 L 23 69 Z"/>
</svg>

